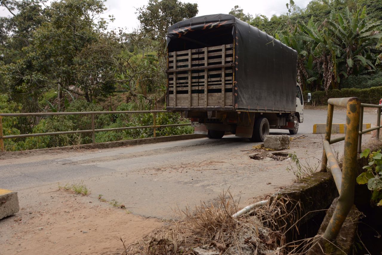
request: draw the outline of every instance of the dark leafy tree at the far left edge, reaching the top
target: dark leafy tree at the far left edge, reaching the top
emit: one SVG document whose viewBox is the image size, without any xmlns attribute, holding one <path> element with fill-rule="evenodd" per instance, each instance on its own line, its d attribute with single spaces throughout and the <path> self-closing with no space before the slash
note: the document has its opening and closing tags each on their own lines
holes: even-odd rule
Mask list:
<svg viewBox="0 0 382 255">
<path fill-rule="evenodd" d="M 43 9 L 35 0 L 1 0 L 0 6 L 5 7 L 11 13 L 8 17 L 0 18 L 0 88 L 3 92 L 18 94 L 18 101 L 25 103 L 32 96 L 34 103 L 26 104 L 27 109 L 36 109 L 36 98 L 38 94 L 19 93 L 18 88 L 25 81 L 30 83 L 32 75 L 30 73 L 19 75 L 23 70 L 28 69 L 29 62 L 23 61 L 27 54 L 24 51 L 31 43 L 34 31 L 46 20 Z M 17 64 L 18 63 L 18 64 Z M 34 77 L 38 80 L 37 77 Z M 40 82 L 38 82 L 40 84 Z M 37 83 L 33 86 L 41 87 Z"/>
</svg>

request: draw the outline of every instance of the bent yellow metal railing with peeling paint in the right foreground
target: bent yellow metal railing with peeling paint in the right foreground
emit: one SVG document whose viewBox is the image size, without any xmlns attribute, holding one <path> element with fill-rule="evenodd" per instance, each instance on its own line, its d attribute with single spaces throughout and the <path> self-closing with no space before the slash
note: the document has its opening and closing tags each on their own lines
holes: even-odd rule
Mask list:
<svg viewBox="0 0 382 255">
<path fill-rule="evenodd" d="M 332 132 L 334 106 L 346 108 L 346 132 L 345 136 L 331 139 L 330 135 Z M 362 130 L 364 107 L 378 108 L 376 127 Z M 381 105 L 363 104 L 356 97 L 330 98 L 328 100 L 328 114 L 326 120 L 325 141 L 323 142 L 324 151 L 322 154 L 321 172 L 326 172 L 327 164 L 329 163 L 340 196 L 332 219 L 324 233 L 324 238 L 327 240 L 334 240 L 337 237 L 343 222 L 350 212 L 351 206 L 354 204 L 357 152 L 361 152 L 362 134 L 377 130 L 376 139 L 379 140 L 379 129 L 382 128 L 380 125 L 381 107 Z M 345 147 L 341 172 L 330 144 L 343 140 L 345 140 Z"/>
</svg>

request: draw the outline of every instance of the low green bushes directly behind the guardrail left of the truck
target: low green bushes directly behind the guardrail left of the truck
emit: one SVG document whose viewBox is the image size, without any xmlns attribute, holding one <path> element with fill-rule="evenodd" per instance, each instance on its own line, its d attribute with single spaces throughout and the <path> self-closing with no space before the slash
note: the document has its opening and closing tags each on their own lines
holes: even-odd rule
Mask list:
<svg viewBox="0 0 382 255">
<path fill-rule="evenodd" d="M 141 102 L 144 104 L 144 102 Z M 144 107 L 144 106 L 143 106 Z M 21 105 L 8 103 L 6 95 L 0 95 L 0 113 L 10 113 L 21 111 Z M 86 100 L 74 100 L 65 111 L 102 111 L 102 106 L 89 103 Z M 117 107 L 117 111 L 142 110 L 141 104 L 122 103 Z M 149 109 L 143 109 L 149 110 Z M 180 118 L 179 114 L 158 113 L 157 125 L 188 123 Z M 18 127 L 18 117 L 3 117 L 4 135 L 20 134 Z M 153 125 L 152 114 L 96 114 L 94 119 L 95 129 L 105 129 L 114 127 L 133 127 Z M 31 133 L 60 132 L 69 130 L 89 130 L 91 129 L 90 115 L 60 115 L 49 116 L 40 119 L 39 123 L 31 128 Z M 177 134 L 191 134 L 194 129 L 191 126 L 162 127 L 157 129 L 157 136 L 168 136 Z M 153 129 L 128 129 L 123 131 L 105 131 L 95 133 L 96 142 L 110 142 L 118 140 L 129 140 L 147 138 L 153 136 Z M 5 139 L 6 150 L 41 149 L 47 147 L 60 147 L 66 145 L 79 145 L 92 142 L 91 134 L 66 134 L 56 136 L 37 136 L 26 139 Z"/>
</svg>

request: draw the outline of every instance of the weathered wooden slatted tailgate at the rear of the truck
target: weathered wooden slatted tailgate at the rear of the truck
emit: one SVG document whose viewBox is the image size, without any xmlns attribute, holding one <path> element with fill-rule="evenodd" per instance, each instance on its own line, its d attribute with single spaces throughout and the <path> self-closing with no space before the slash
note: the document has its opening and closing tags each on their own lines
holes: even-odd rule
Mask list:
<svg viewBox="0 0 382 255">
<path fill-rule="evenodd" d="M 207 55 L 206 55 L 207 54 Z M 174 68 L 174 64 L 175 68 Z M 233 44 L 168 53 L 168 103 L 170 107 L 233 105 L 233 68 L 209 67 L 233 62 Z M 191 70 L 175 71 L 189 68 Z M 206 67 L 193 70 L 193 67 Z M 171 71 L 174 72 L 171 72 Z M 176 85 L 176 89 L 174 87 Z M 207 87 L 207 93 L 205 91 Z M 224 88 L 224 89 L 223 89 Z M 207 103 L 206 103 L 207 100 Z"/>
</svg>

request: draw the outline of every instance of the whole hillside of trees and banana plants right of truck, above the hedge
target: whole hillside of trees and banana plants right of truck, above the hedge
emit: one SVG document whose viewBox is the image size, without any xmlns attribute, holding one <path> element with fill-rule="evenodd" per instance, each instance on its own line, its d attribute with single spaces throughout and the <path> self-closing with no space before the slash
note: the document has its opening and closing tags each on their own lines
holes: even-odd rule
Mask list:
<svg viewBox="0 0 382 255">
<path fill-rule="evenodd" d="M 382 11 L 376 1 L 314 0 L 304 10 L 290 1 L 287 8 L 288 14 L 270 20 L 244 15 L 238 6 L 231 14 L 298 52 L 298 82 L 304 90 L 340 89 L 349 76 L 379 75 Z"/>
</svg>

